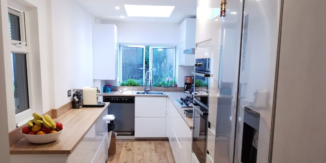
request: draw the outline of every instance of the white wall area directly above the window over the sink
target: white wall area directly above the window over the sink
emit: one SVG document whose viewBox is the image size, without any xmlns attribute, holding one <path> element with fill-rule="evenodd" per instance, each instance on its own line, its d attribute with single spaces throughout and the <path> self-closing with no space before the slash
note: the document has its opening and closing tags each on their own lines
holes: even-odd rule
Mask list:
<svg viewBox="0 0 326 163">
<path fill-rule="evenodd" d="M 102 20 L 118 27 L 118 42 L 148 45 L 178 45 L 179 24 L 160 22 L 126 22 Z"/>
</svg>

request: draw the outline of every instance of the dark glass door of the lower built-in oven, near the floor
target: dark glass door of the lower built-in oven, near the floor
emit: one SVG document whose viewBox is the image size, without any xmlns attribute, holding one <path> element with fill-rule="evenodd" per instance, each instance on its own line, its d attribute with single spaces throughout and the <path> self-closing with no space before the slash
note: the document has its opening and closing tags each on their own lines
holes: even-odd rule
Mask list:
<svg viewBox="0 0 326 163">
<path fill-rule="evenodd" d="M 207 153 L 208 110 L 196 103 L 193 107 L 192 151 L 200 163 L 205 163 Z"/>
</svg>

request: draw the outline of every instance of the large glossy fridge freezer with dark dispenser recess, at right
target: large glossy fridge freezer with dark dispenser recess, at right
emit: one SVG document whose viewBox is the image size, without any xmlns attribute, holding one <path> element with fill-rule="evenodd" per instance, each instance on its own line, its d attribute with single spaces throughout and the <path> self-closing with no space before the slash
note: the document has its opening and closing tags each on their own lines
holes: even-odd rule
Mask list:
<svg viewBox="0 0 326 163">
<path fill-rule="evenodd" d="M 303 12 L 306 6 L 315 10 Z M 215 163 L 326 161 L 324 7 L 317 0 L 228 1 L 218 88 L 229 88 L 232 101 L 217 101 Z M 240 21 L 230 23 L 231 16 Z"/>
</svg>

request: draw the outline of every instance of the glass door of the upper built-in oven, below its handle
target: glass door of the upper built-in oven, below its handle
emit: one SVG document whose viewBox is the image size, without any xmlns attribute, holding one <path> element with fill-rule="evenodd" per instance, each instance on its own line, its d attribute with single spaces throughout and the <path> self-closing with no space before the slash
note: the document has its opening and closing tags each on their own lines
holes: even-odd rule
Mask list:
<svg viewBox="0 0 326 163">
<path fill-rule="evenodd" d="M 195 75 L 195 91 L 194 98 L 196 98 L 199 103 L 208 107 L 208 86 L 209 77 L 202 77 Z"/>
</svg>

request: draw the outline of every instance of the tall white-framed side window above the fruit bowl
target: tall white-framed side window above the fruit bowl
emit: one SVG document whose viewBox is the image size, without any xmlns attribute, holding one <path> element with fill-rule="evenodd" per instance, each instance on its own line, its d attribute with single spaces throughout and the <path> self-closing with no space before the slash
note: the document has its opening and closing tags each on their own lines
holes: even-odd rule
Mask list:
<svg viewBox="0 0 326 163">
<path fill-rule="evenodd" d="M 28 54 L 25 13 L 8 7 L 9 39 L 12 63 L 13 92 L 16 121 L 32 114 L 28 92 Z"/>
</svg>

